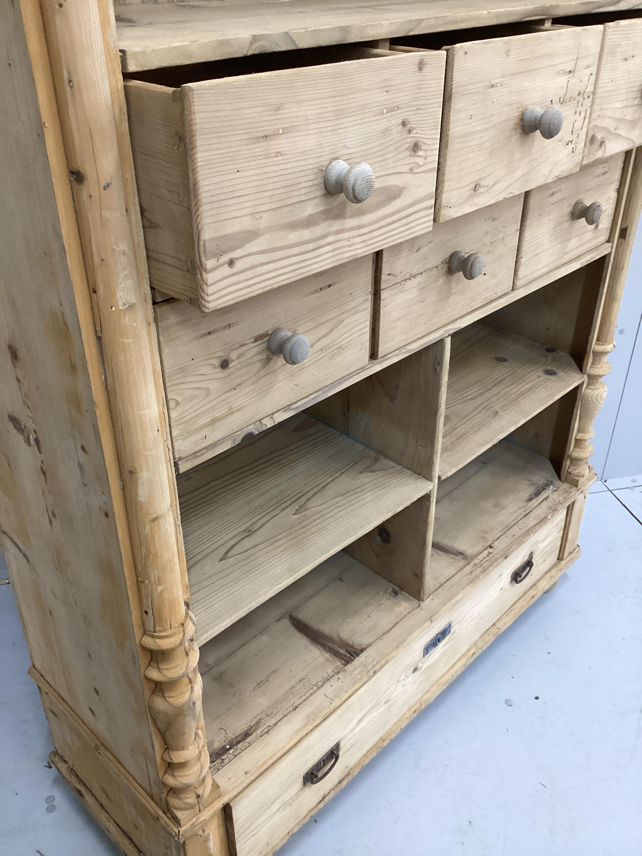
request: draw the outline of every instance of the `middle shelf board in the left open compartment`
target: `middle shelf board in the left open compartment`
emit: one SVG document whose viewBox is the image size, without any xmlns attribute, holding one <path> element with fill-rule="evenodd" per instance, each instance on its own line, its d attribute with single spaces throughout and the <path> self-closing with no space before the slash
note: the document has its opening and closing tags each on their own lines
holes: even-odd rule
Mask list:
<svg viewBox="0 0 642 856">
<path fill-rule="evenodd" d="M 199 644 L 431 490 L 306 415 L 178 479 Z"/>
</svg>

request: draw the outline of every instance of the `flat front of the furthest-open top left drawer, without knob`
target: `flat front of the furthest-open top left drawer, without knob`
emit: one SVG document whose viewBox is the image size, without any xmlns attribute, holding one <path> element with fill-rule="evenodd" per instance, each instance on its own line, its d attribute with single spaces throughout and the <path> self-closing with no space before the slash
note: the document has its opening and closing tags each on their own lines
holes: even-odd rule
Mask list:
<svg viewBox="0 0 642 856">
<path fill-rule="evenodd" d="M 378 56 L 183 86 L 204 311 L 431 228 L 442 56 Z M 370 199 L 324 187 L 369 163 Z"/>
</svg>

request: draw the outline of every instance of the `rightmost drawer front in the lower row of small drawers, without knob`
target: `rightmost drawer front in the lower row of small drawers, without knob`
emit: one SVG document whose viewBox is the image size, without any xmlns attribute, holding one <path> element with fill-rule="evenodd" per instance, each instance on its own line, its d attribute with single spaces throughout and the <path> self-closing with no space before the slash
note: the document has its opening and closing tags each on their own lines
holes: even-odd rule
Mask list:
<svg viewBox="0 0 642 856">
<path fill-rule="evenodd" d="M 574 175 L 551 181 L 526 193 L 515 288 L 555 270 L 609 241 L 624 155 L 590 163 Z M 574 206 L 597 202 L 602 216 L 590 225 L 591 212 L 574 219 Z M 580 211 L 575 210 L 575 215 Z"/>
</svg>

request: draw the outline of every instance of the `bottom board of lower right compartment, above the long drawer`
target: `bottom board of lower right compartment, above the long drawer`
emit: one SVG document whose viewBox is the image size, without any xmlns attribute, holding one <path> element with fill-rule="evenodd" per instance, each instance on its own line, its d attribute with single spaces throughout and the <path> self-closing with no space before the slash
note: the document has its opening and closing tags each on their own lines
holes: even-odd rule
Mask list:
<svg viewBox="0 0 642 856">
<path fill-rule="evenodd" d="M 441 482 L 428 591 L 461 571 L 468 562 L 562 487 L 550 461 L 502 440 Z"/>
</svg>

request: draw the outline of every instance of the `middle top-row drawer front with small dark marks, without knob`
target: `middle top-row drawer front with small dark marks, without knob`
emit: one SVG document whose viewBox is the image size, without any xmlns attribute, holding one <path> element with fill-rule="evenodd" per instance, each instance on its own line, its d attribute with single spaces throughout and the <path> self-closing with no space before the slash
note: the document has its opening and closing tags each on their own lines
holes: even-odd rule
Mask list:
<svg viewBox="0 0 642 856">
<path fill-rule="evenodd" d="M 448 49 L 437 221 L 580 168 L 602 27 L 554 29 Z M 550 140 L 522 131 L 529 106 L 559 107 Z"/>
</svg>

